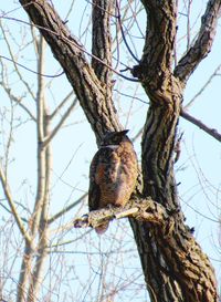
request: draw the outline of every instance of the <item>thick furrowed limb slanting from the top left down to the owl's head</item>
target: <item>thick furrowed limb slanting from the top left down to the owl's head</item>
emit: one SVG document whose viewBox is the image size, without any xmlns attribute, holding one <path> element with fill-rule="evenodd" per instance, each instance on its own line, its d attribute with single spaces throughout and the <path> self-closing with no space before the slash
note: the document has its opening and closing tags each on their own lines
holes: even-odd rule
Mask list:
<svg viewBox="0 0 221 302">
<path fill-rule="evenodd" d="M 96 134 L 97 142 L 106 131 L 122 129 L 114 103 L 109 97 L 106 97 L 106 87 L 85 59 L 85 49 L 72 37 L 54 8 L 48 1 L 42 0 L 20 0 L 20 3 L 64 69 Z"/>
</svg>

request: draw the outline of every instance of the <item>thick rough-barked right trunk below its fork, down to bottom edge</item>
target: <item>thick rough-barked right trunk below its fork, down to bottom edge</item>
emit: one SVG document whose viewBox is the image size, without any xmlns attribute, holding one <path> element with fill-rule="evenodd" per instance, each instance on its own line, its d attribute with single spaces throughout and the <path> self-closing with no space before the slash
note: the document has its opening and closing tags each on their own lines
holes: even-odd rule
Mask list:
<svg viewBox="0 0 221 302">
<path fill-rule="evenodd" d="M 169 221 L 161 228 L 134 219 L 130 225 L 152 301 L 218 301 L 214 271 L 185 226 L 178 200 L 172 155 L 182 95 L 176 82 L 171 88 L 166 101 L 159 98 L 160 92 L 151 95 L 143 135 L 143 176 L 144 197 L 164 205 L 175 226 L 168 229 Z"/>
</svg>

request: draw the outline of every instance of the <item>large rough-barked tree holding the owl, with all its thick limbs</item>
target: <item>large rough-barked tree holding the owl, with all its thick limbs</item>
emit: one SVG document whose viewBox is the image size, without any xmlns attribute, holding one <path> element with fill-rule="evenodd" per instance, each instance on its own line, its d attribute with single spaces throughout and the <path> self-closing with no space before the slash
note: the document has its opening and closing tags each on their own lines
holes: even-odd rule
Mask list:
<svg viewBox="0 0 221 302">
<path fill-rule="evenodd" d="M 105 11 L 110 11 L 108 2 L 112 1 L 94 1 L 93 19 L 99 20 L 94 22 L 93 31 L 94 37 L 97 34 L 97 40 L 93 43 L 93 53 L 98 58 L 97 61 L 93 59 L 92 65 L 85 60 L 83 45 L 70 34 L 46 1 L 20 2 L 63 66 L 97 140 L 107 129 L 120 129 L 110 93 L 107 93 L 109 86 L 106 86 L 110 83 L 107 69 L 110 64 L 109 52 L 105 51 L 106 48 L 110 50 L 110 31 L 109 17 Z M 175 72 L 172 55 L 177 25 L 176 1 L 143 0 L 143 4 L 148 17 L 146 42 L 140 64 L 133 71 L 150 100 L 141 144 L 143 195 L 150 196 L 165 207 L 173 218 L 175 227 L 166 235 L 164 228 L 148 221 L 130 218 L 130 225 L 152 301 L 218 301 L 214 271 L 185 226 L 173 177 L 172 155 L 183 87 L 191 72 L 211 49 L 220 0 L 208 1 L 199 38 L 180 60 Z M 98 11 L 99 6 L 105 10 Z M 106 31 L 98 32 L 96 29 L 99 27 L 107 27 Z M 97 41 L 99 45 L 96 44 Z M 203 44 L 203 51 L 200 43 Z M 102 51 L 97 50 L 98 46 Z"/>
</svg>

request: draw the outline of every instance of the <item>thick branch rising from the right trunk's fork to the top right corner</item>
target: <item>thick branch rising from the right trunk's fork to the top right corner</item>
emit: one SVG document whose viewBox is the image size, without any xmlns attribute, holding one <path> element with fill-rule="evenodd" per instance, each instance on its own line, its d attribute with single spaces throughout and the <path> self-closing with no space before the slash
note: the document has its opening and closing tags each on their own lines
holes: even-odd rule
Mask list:
<svg viewBox="0 0 221 302">
<path fill-rule="evenodd" d="M 199 63 L 211 51 L 220 13 L 220 0 L 209 0 L 206 12 L 201 18 L 201 28 L 197 40 L 175 69 L 175 76 L 185 84 Z"/>
</svg>

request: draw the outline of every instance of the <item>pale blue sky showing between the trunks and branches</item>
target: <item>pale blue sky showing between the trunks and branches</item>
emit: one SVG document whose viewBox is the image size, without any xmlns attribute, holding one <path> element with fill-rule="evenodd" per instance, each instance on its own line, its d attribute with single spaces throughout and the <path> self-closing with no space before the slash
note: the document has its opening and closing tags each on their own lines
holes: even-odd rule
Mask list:
<svg viewBox="0 0 221 302">
<path fill-rule="evenodd" d="M 191 8 L 191 37 L 194 37 L 200 24 L 199 15 L 202 13 L 204 4 L 207 1 L 192 1 Z M 54 7 L 60 11 L 63 19 L 66 18 L 69 13 L 70 6 L 72 1 L 65 1 L 65 6 L 61 1 L 53 1 Z M 0 6 L 0 14 L 9 18 L 17 18 L 19 20 L 25 20 L 27 15 L 21 10 L 18 9 L 19 3 L 17 1 L 3 1 Z M 186 27 L 187 27 L 187 17 L 183 14 L 185 9 L 180 2 L 179 8 L 179 28 L 178 28 L 178 56 L 185 52 L 186 49 Z M 91 4 L 87 1 L 74 1 L 73 10 L 67 17 L 67 24 L 71 29 L 71 32 L 77 37 L 81 37 L 82 43 L 86 45 L 86 49 L 91 49 L 91 31 L 87 29 L 90 23 L 90 13 Z M 83 17 L 82 17 L 83 15 Z M 10 42 L 10 50 L 14 53 L 18 62 L 24 64 L 29 69 L 36 70 L 36 60 L 33 51 L 33 45 L 27 43 L 31 41 L 30 31 L 25 24 L 18 22 L 14 19 L 2 19 L 1 22 L 4 25 L 4 34 L 8 37 L 8 42 Z M 145 29 L 145 18 L 140 14 L 138 20 L 139 27 Z M 129 24 L 129 23 L 128 23 Z M 192 97 L 201 90 L 204 83 L 208 82 L 210 75 L 214 72 L 217 66 L 221 64 L 220 59 L 220 49 L 221 49 L 221 27 L 220 21 L 218 24 L 217 38 L 212 46 L 211 53 L 207 59 L 198 66 L 197 71 L 190 77 L 187 88 L 185 91 L 183 105 L 188 104 Z M 21 27 L 20 27 L 21 25 Z M 138 35 L 138 30 L 135 28 L 134 34 Z M 143 49 L 144 40 L 141 37 L 136 40 L 137 55 L 139 56 Z M 129 40 L 130 42 L 130 40 Z M 133 48 L 133 44 L 131 44 Z M 0 55 L 9 58 L 9 48 L 3 37 L 3 32 L 0 33 Z M 125 64 L 133 66 L 136 62 L 129 56 L 126 52 L 125 46 L 120 52 L 120 60 Z M 4 80 L 8 82 L 9 86 L 12 90 L 12 93 L 17 96 L 23 97 L 23 103 L 27 107 L 35 113 L 35 102 L 31 94 L 25 87 L 25 83 L 19 80 L 18 74 L 14 73 L 13 64 L 7 60 L 3 60 L 1 64 L 4 64 Z M 1 65 L 2 66 L 2 65 Z M 122 69 L 122 65 L 118 64 L 118 70 Z M 36 91 L 36 75 L 32 72 L 29 72 L 20 67 L 20 72 L 24 77 L 24 81 L 30 83 L 31 91 L 35 93 Z M 50 49 L 46 49 L 46 63 L 45 63 L 45 74 L 53 75 L 54 73 L 61 72 L 59 64 L 55 62 L 53 55 L 51 54 Z M 221 74 L 221 73 L 220 73 Z M 188 112 L 194 117 L 202 121 L 206 125 L 218 129 L 221 133 L 220 124 L 220 74 L 215 76 L 207 88 L 196 98 L 193 104 L 188 108 Z M 129 74 L 128 74 L 129 75 Z M 136 133 L 143 126 L 146 112 L 148 108 L 148 98 L 145 95 L 144 91 L 140 87 L 137 87 L 136 83 L 125 82 L 122 79 L 114 75 L 117 80 L 115 84 L 115 100 L 116 107 L 122 121 L 122 124 L 126 128 L 130 128 L 129 135 L 134 137 Z M 65 75 L 59 76 L 56 79 L 45 79 L 46 85 L 46 102 L 51 111 L 55 108 L 61 100 L 63 100 L 71 91 L 72 87 L 69 84 Z M 9 153 L 9 181 L 12 189 L 13 196 L 18 202 L 25 205 L 27 208 L 33 207 L 33 200 L 35 195 L 35 183 L 36 183 L 36 137 L 35 137 L 35 124 L 32 121 L 29 121 L 28 115 L 19 107 L 13 107 L 13 116 L 11 115 L 11 103 L 6 96 L 3 88 L 0 87 L 1 94 L 3 95 L 2 107 L 0 108 L 0 121 L 1 121 L 1 138 L 0 156 L 6 159 L 4 153 L 10 142 L 10 153 Z M 136 91 L 136 93 L 135 93 Z M 122 95 L 122 92 L 130 95 L 130 97 Z M 133 95 L 140 98 L 133 98 Z M 130 113 L 130 114 L 129 114 Z M 55 118 L 52 123 L 52 127 L 56 125 L 60 121 L 62 113 Z M 3 117 L 6 117 L 3 122 Z M 8 139 L 8 133 L 10 129 L 10 121 L 13 119 L 13 135 L 12 139 Z M 179 197 L 182 205 L 182 210 L 187 217 L 187 223 L 190 227 L 194 227 L 194 236 L 200 242 L 203 251 L 210 257 L 212 264 L 215 268 L 218 280 L 221 284 L 221 268 L 220 268 L 220 160 L 221 160 L 221 149 L 220 143 L 213 137 L 210 137 L 203 131 L 199 129 L 189 122 L 180 118 L 179 122 L 179 133 L 183 132 L 182 142 L 181 142 L 181 156 L 179 162 L 176 164 L 176 178 L 179 185 Z M 96 142 L 91 131 L 86 118 L 80 108 L 80 105 L 76 106 L 64 127 L 59 132 L 52 144 L 53 147 L 53 178 L 52 178 L 52 204 L 51 215 L 61 210 L 65 205 L 69 205 L 71 201 L 76 200 L 84 192 L 87 191 L 88 187 L 88 167 L 90 162 L 93 157 L 93 154 L 96 152 Z M 140 138 L 135 143 L 135 148 L 140 155 Z M 2 192 L 1 192 L 2 195 Z M 2 197 L 1 197 L 2 198 Z M 86 204 L 86 200 L 85 200 Z M 21 209 L 20 209 L 21 210 Z M 86 205 L 81 205 L 74 214 L 70 214 L 64 218 L 63 221 L 69 221 L 73 215 L 82 215 L 86 211 Z M 25 211 L 21 212 L 24 215 Z M 4 212 L 1 214 L 2 221 L 6 219 Z M 57 226 L 63 222 L 62 220 L 57 221 Z M 123 251 L 133 250 L 133 260 L 136 258 L 136 250 L 133 246 L 131 233 L 129 230 L 126 231 L 125 236 L 117 235 L 116 229 L 125 231 L 125 221 L 120 222 L 117 226 L 113 226 L 112 230 L 103 240 L 97 240 L 95 243 L 93 241 L 94 236 L 88 235 L 86 237 L 87 242 L 93 242 L 93 248 L 90 244 L 77 244 L 70 243 L 65 246 L 65 251 L 75 250 L 74 258 L 69 261 L 76 261 L 77 268 L 75 267 L 75 274 L 77 275 L 82 268 L 85 269 L 85 278 L 88 278 L 93 281 L 94 275 L 99 271 L 101 261 L 106 263 L 112 263 L 116 261 L 116 258 L 109 258 L 110 262 L 107 261 L 106 253 L 112 251 L 112 244 L 114 239 L 117 241 L 116 250 L 122 249 Z M 61 238 L 54 236 L 52 244 L 57 241 L 70 240 L 73 237 L 76 239 L 83 233 L 82 230 L 72 230 L 71 233 L 61 235 Z M 113 239 L 114 238 L 114 239 Z M 123 243 L 125 239 L 125 242 Z M 75 240 L 78 242 L 77 240 Z M 116 243 L 116 242 L 115 242 Z M 94 262 L 94 268 L 91 271 L 87 265 L 85 257 L 83 256 L 88 250 L 92 253 L 97 253 L 96 261 Z M 96 252 L 95 252 L 96 250 Z M 55 259 L 55 258 L 54 258 Z M 51 258 L 53 260 L 53 258 Z M 61 256 L 61 262 L 67 261 L 64 256 Z M 67 262 L 69 262 L 67 261 Z M 119 274 L 122 273 L 120 269 L 124 268 L 124 272 L 129 274 L 129 271 L 133 264 L 129 265 L 129 262 L 120 264 L 117 267 L 115 274 L 116 280 L 119 280 Z M 127 261 L 128 258 L 127 258 Z M 102 263 L 103 263 L 102 262 Z M 135 270 L 137 271 L 138 263 L 135 263 Z M 71 264 L 69 264 L 71 268 Z M 122 265 L 122 268 L 120 268 Z M 70 269 L 71 270 L 71 269 Z M 96 273 L 95 273 L 96 272 Z M 140 270 L 139 270 L 140 272 Z M 86 277 L 87 275 L 87 277 Z M 118 275 L 118 279 L 117 279 Z M 138 277 L 137 277 L 138 278 Z M 139 277 L 140 278 L 140 277 Z M 114 279 L 114 278 L 113 278 Z M 141 279 L 141 278 L 140 278 Z M 139 279 L 139 280 L 140 280 Z M 96 279 L 94 279 L 96 280 Z M 115 280 L 115 281 L 116 281 Z M 114 281 L 113 281 L 114 282 Z M 116 281 L 117 282 L 117 281 Z M 144 282 L 140 282 L 140 287 L 144 287 Z M 119 282 L 120 283 L 120 282 Z M 91 283 L 88 283 L 91 284 Z M 95 288 L 99 292 L 98 281 L 93 281 L 92 285 L 84 289 L 84 294 L 87 296 L 94 294 Z M 135 287 L 136 288 L 136 287 Z M 144 294 L 144 292 L 143 292 Z M 86 298 L 85 298 L 86 299 Z M 120 294 L 118 295 L 120 298 Z M 126 299 L 126 298 L 125 298 Z M 129 298 L 128 298 L 129 299 Z M 138 296 L 137 301 L 141 298 Z M 144 298 L 143 298 L 144 299 Z M 55 301 L 55 300 L 54 300 Z M 70 299 L 70 301 L 72 301 Z M 85 300 L 86 301 L 86 300 Z M 88 300 L 90 301 L 90 300 Z M 123 300 L 116 300 L 123 301 Z M 129 301 L 129 300 L 125 300 Z"/>
</svg>

